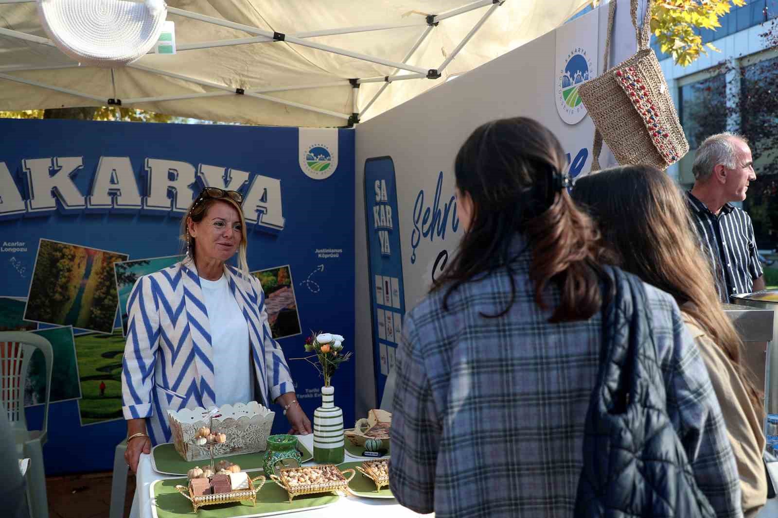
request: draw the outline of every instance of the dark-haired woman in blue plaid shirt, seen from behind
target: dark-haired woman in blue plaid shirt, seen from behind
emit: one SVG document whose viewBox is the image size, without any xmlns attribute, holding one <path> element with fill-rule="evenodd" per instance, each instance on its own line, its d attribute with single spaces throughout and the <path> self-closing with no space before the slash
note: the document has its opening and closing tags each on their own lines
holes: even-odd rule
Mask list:
<svg viewBox="0 0 778 518">
<path fill-rule="evenodd" d="M 398 348 L 390 483 L 436 516 L 573 516 L 603 345 L 604 250 L 559 174 L 561 145 L 524 117 L 477 128 L 454 163 L 464 228 L 453 264 L 408 312 Z M 737 472 L 699 353 L 649 285 L 668 412 L 718 516 Z"/>
</svg>

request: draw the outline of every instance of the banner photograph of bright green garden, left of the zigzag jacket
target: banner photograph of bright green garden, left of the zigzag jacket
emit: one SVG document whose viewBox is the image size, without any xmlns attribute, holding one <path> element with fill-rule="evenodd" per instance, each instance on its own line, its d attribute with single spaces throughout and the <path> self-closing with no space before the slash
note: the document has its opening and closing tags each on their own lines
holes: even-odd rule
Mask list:
<svg viewBox="0 0 778 518">
<path fill-rule="evenodd" d="M 81 375 L 81 425 L 121 419 L 121 327 L 113 334 L 86 333 L 75 337 Z"/>
</svg>

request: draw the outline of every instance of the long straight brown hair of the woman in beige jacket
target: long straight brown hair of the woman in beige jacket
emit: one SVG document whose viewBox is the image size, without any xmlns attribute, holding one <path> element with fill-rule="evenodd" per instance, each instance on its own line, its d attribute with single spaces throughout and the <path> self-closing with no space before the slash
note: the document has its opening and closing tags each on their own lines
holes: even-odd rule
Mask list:
<svg viewBox="0 0 778 518">
<path fill-rule="evenodd" d="M 573 198 L 596 219 L 619 266 L 675 297 L 678 305 L 724 351 L 754 408 L 762 401 L 741 364 L 743 342 L 718 302 L 682 192 L 653 166 L 615 167 L 581 178 Z"/>
</svg>

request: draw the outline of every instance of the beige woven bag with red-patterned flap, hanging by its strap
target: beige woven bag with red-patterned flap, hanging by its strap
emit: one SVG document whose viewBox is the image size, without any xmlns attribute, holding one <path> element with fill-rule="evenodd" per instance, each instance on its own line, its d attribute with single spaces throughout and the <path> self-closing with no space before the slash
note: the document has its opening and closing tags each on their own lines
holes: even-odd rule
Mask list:
<svg viewBox="0 0 778 518">
<path fill-rule="evenodd" d="M 647 9 L 650 9 L 651 2 L 647 3 Z M 611 2 L 608 16 L 605 67 L 608 64 L 615 5 L 616 2 Z M 597 128 L 592 152 L 593 171 L 599 168 L 603 139 L 622 166 L 649 164 L 665 170 L 689 152 L 689 142 L 678 121 L 661 65 L 654 51 L 648 47 L 648 23 L 638 29 L 637 0 L 631 0 L 631 8 L 640 50 L 578 88 L 580 98 Z"/>
</svg>

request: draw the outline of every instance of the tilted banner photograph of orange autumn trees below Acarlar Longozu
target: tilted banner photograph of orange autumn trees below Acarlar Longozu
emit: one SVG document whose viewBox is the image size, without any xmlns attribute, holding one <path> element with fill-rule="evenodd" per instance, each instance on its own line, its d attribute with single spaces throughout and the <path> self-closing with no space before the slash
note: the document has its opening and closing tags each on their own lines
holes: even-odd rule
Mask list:
<svg viewBox="0 0 778 518">
<path fill-rule="evenodd" d="M 114 263 L 127 257 L 41 239 L 25 320 L 110 334 L 118 303 Z"/>
</svg>

